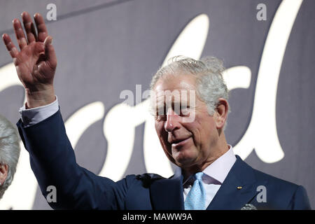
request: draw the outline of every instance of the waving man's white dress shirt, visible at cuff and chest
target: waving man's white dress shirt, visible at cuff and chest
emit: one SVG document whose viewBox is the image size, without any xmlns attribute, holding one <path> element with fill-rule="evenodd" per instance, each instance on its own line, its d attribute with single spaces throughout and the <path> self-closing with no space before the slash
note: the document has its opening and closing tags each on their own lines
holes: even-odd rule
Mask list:
<svg viewBox="0 0 315 224">
<path fill-rule="evenodd" d="M 59 110 L 58 99 L 56 96 L 55 102 L 45 106 L 39 106 L 33 109 L 25 109 L 25 106 L 20 108 L 20 116 L 22 119 L 22 123 L 24 127 L 30 127 L 32 125 L 36 125 L 41 121 L 49 118 L 54 113 Z M 214 196 L 220 189 L 223 181 L 225 180 L 226 176 L 230 172 L 230 169 L 234 165 L 236 161 L 235 154 L 233 152 L 232 146 L 229 146 L 229 150 L 221 155 L 217 160 L 215 160 L 211 165 L 209 165 L 206 169 L 204 169 L 202 176 L 202 183 L 204 189 L 206 190 L 207 200 L 206 200 L 206 208 L 209 206 L 211 201 L 214 199 Z M 193 186 L 194 182 L 193 175 L 190 176 L 184 183 L 183 183 L 183 198 L 186 200 L 186 196 L 188 195 L 190 189 Z"/>
</svg>

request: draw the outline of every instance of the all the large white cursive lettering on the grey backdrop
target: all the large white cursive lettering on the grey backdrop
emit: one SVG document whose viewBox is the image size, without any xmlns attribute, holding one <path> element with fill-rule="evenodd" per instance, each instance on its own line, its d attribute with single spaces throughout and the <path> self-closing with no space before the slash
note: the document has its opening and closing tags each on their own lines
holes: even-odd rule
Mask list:
<svg viewBox="0 0 315 224">
<path fill-rule="evenodd" d="M 277 162 L 284 156 L 276 133 L 276 90 L 283 55 L 301 3 L 302 0 L 283 0 L 269 29 L 258 71 L 251 123 L 244 136 L 234 147 L 235 153 L 242 159 L 245 159 L 254 148 L 258 158 L 263 162 Z M 175 55 L 186 55 L 199 59 L 207 40 L 208 31 L 208 16 L 198 15 L 183 29 L 162 65 L 165 65 L 167 59 Z M 223 77 L 229 90 L 248 88 L 251 81 L 251 70 L 246 66 L 234 66 L 226 69 Z M 22 86 L 15 66 L 10 63 L 0 68 L 0 92 L 14 85 Z M 266 89 L 268 91 L 264 91 Z M 136 98 L 139 99 L 138 96 Z M 142 98 L 146 98 L 146 92 L 142 94 Z M 137 101 L 139 102 L 139 100 Z M 148 108 L 149 100 L 146 99 L 136 106 L 117 104 L 106 114 L 103 129 L 104 137 L 108 141 L 108 148 L 104 166 L 99 173 L 100 176 L 109 177 L 113 181 L 118 181 L 123 177 L 132 155 L 135 127 L 142 123 L 145 123 L 144 160 L 147 172 L 162 176 L 173 174 L 169 160 L 162 151 L 155 133 L 154 119 Z M 104 113 L 104 104 L 93 102 L 76 111 L 66 120 L 66 131 L 73 148 L 83 132 L 90 125 L 101 120 Z M 80 125 L 77 120 L 80 120 Z M 122 126 L 124 128 L 121 128 Z M 261 136 L 262 133 L 263 136 Z M 121 141 L 122 136 L 124 141 Z M 0 200 L 0 209 L 31 209 L 33 207 L 37 182 L 31 171 L 29 155 L 22 141 L 21 149 L 15 179 Z"/>
</svg>

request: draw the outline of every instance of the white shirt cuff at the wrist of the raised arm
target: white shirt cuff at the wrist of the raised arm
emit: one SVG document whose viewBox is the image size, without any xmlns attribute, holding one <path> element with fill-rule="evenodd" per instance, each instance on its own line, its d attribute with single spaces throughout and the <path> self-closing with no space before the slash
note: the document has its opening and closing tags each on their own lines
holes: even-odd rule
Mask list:
<svg viewBox="0 0 315 224">
<path fill-rule="evenodd" d="M 32 125 L 36 125 L 41 121 L 49 118 L 54 113 L 59 110 L 58 99 L 56 96 L 56 100 L 51 104 L 45 106 L 38 106 L 31 109 L 25 109 L 25 105 L 22 106 L 19 110 L 20 117 L 22 119 L 22 123 L 24 127 L 30 127 Z"/>
</svg>

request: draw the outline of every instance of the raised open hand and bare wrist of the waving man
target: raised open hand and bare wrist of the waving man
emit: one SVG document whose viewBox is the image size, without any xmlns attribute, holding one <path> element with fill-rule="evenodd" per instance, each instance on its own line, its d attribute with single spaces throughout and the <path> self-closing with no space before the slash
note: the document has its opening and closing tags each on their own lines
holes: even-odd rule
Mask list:
<svg viewBox="0 0 315 224">
<path fill-rule="evenodd" d="M 13 57 L 18 76 L 25 87 L 27 108 L 43 106 L 55 101 L 53 78 L 57 67 L 57 58 L 52 46 L 52 37 L 48 36 L 45 22 L 41 14 L 34 15 L 36 29 L 27 12 L 22 13 L 22 21 L 13 20 L 15 36 L 20 47 L 15 47 L 8 34 L 3 34 L 3 42 Z"/>
</svg>

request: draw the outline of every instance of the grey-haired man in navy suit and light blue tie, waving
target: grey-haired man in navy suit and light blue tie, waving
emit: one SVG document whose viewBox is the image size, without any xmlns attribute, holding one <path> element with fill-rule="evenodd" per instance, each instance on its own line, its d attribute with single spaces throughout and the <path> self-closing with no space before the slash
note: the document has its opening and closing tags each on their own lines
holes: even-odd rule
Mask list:
<svg viewBox="0 0 315 224">
<path fill-rule="evenodd" d="M 310 209 L 302 186 L 253 169 L 227 143 L 228 88 L 216 57 L 175 57 L 151 81 L 155 130 L 177 166 L 174 176 L 129 175 L 114 182 L 80 167 L 55 97 L 52 37 L 38 13 L 37 34 L 28 13 L 22 13 L 22 20 L 27 36 L 20 21 L 13 20 L 20 51 L 7 34 L 3 41 L 27 96 L 20 109 L 20 136 L 43 195 L 48 186 L 57 188 L 52 208 Z M 258 198 L 258 189 L 265 190 L 264 197 Z"/>
</svg>

